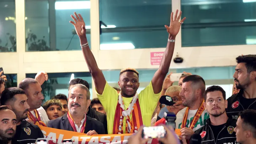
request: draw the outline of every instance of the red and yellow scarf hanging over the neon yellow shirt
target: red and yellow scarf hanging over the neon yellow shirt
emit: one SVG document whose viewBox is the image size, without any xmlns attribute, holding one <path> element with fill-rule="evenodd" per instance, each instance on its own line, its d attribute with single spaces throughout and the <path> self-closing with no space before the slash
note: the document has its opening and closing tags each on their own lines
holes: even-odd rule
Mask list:
<svg viewBox="0 0 256 144">
<path fill-rule="evenodd" d="M 136 93 L 130 102 L 127 110 L 124 110 L 124 102 L 121 92 L 118 96 L 118 103 L 116 107 L 116 114 L 114 117 L 113 134 L 123 134 L 123 119 L 126 117 L 126 130 L 125 133 L 135 133 L 138 131 L 140 126 L 143 125 L 142 114 L 139 106 L 138 94 Z M 132 119 L 130 119 L 132 114 Z"/>
</svg>

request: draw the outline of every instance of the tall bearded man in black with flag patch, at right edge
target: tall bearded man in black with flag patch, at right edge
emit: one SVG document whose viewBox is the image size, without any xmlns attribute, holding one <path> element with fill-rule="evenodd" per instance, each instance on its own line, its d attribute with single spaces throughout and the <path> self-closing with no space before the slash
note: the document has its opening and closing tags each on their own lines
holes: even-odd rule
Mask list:
<svg viewBox="0 0 256 144">
<path fill-rule="evenodd" d="M 233 75 L 238 94 L 228 98 L 226 113 L 238 119 L 238 113 L 247 109 L 256 110 L 256 55 L 242 55 Z"/>
</svg>

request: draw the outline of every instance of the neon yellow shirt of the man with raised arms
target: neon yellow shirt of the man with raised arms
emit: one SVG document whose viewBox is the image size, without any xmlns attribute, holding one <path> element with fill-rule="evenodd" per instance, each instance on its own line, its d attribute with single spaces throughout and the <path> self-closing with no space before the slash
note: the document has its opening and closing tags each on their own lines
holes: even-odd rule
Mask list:
<svg viewBox="0 0 256 144">
<path fill-rule="evenodd" d="M 98 94 L 98 99 L 100 100 L 102 106 L 104 107 L 107 113 L 107 129 L 108 134 L 113 134 L 113 127 L 114 127 L 114 116 L 116 113 L 116 106 L 118 103 L 118 93 L 112 86 L 106 85 L 104 87 L 104 91 L 102 95 Z M 156 108 L 156 105 L 159 101 L 160 93 L 154 94 L 153 86 L 150 81 L 149 85 L 145 87 L 139 93 L 139 104 L 140 104 L 140 111 L 142 113 L 142 121 L 144 126 L 151 126 L 151 118 L 153 112 Z M 123 97 L 124 107 L 127 109 L 132 101 L 132 97 Z M 132 119 L 132 114 L 129 116 Z M 126 126 L 126 118 L 124 117 L 123 120 L 123 132 L 125 133 L 125 126 Z"/>
</svg>

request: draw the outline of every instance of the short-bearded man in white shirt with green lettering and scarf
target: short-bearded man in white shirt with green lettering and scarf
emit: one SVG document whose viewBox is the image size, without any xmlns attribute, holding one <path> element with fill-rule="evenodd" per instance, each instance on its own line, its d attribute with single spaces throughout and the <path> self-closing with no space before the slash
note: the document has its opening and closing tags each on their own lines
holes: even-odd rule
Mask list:
<svg viewBox="0 0 256 144">
<path fill-rule="evenodd" d="M 176 114 L 176 129 L 181 129 L 181 136 L 189 140 L 209 118 L 203 105 L 206 86 L 201 76 L 189 75 L 182 80 L 181 88 L 182 105 L 186 107 Z"/>
</svg>

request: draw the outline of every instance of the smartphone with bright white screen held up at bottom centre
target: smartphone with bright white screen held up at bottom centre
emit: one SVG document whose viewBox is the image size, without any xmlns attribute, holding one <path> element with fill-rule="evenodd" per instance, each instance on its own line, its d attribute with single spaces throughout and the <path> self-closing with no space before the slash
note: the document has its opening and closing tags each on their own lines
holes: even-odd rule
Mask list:
<svg viewBox="0 0 256 144">
<path fill-rule="evenodd" d="M 144 127 L 142 131 L 142 138 L 163 138 L 165 137 L 165 133 L 163 126 Z"/>
</svg>

